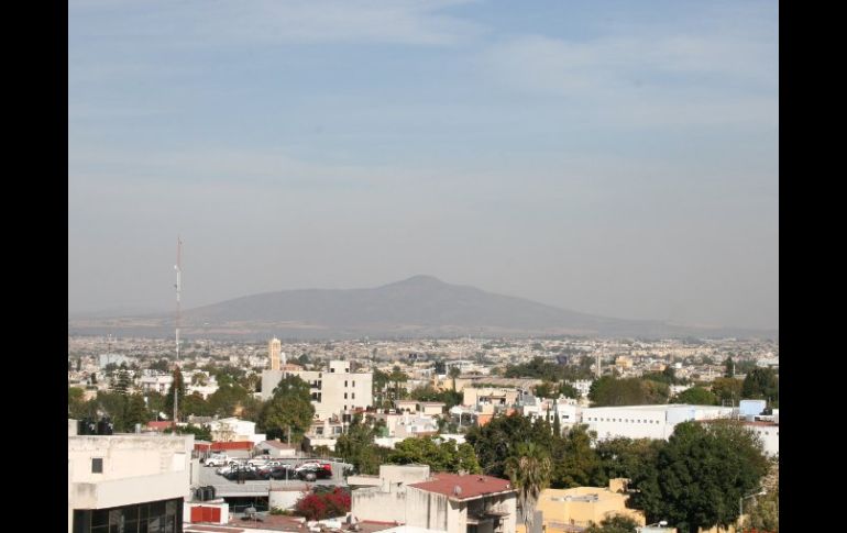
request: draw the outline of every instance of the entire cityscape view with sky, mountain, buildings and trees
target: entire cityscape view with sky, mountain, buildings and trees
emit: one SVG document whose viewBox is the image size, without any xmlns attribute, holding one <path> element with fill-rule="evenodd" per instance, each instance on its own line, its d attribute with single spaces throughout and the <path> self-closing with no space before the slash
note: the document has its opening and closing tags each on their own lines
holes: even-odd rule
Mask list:
<svg viewBox="0 0 847 533">
<path fill-rule="evenodd" d="M 68 533 L 778 533 L 779 5 L 68 1 Z"/>
</svg>

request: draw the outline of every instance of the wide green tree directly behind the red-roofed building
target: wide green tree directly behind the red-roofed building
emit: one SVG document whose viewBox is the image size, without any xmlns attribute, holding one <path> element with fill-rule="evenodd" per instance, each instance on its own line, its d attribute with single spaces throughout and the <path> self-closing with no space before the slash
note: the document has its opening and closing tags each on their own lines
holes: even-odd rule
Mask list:
<svg viewBox="0 0 847 533">
<path fill-rule="evenodd" d="M 429 465 L 432 471 L 458 473 L 463 470 L 470 474 L 482 471 L 476 462 L 473 446 L 468 443 L 457 445 L 452 438 L 439 444 L 429 436 L 410 437 L 398 442 L 388 455 L 388 463 Z"/>
</svg>

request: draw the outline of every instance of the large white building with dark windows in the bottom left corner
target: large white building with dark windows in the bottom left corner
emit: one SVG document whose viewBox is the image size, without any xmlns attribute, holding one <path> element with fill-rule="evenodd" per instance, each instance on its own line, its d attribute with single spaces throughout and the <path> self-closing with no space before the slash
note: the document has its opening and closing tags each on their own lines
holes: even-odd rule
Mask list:
<svg viewBox="0 0 847 533">
<path fill-rule="evenodd" d="M 68 422 L 68 533 L 183 531 L 194 435 L 76 435 Z"/>
</svg>

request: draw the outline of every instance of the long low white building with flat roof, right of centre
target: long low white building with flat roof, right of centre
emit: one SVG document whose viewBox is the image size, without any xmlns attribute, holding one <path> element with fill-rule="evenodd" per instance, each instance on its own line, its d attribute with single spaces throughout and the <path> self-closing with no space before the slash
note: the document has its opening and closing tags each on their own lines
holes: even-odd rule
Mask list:
<svg viewBox="0 0 847 533">
<path fill-rule="evenodd" d="M 718 406 L 620 406 L 585 408 L 582 423 L 597 432 L 597 438 L 668 438 L 680 422 L 730 418 L 733 408 Z"/>
</svg>

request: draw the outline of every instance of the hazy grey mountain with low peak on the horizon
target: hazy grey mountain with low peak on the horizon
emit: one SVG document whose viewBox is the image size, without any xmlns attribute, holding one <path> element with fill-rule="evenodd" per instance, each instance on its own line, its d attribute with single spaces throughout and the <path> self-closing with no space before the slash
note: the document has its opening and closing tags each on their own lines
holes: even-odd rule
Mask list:
<svg viewBox="0 0 847 533">
<path fill-rule="evenodd" d="M 173 329 L 173 317 L 167 315 L 116 318 L 101 321 L 99 325 L 97 320 L 74 322 L 69 321 L 69 333 L 107 325 L 130 331 L 141 327 L 167 332 Z M 183 327 L 187 335 L 263 337 L 275 334 L 289 338 L 481 334 L 774 336 L 773 332 L 708 330 L 659 321 L 596 317 L 474 287 L 450 285 L 431 276 L 415 276 L 372 289 L 285 290 L 237 298 L 184 312 Z"/>
</svg>

